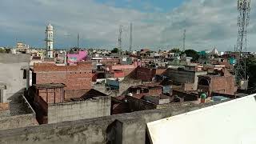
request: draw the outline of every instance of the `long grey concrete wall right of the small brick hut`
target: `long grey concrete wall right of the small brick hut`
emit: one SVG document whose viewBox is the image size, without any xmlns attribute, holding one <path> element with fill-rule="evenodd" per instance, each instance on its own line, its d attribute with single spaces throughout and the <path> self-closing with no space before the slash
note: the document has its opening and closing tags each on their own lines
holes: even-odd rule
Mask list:
<svg viewBox="0 0 256 144">
<path fill-rule="evenodd" d="M 110 115 L 110 97 L 48 105 L 48 123 L 74 121 Z"/>
</svg>

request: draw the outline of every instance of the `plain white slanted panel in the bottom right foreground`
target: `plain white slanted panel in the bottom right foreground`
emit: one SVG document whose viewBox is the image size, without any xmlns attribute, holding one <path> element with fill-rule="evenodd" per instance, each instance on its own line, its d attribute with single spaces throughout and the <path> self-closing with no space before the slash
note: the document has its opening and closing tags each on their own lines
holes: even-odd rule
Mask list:
<svg viewBox="0 0 256 144">
<path fill-rule="evenodd" d="M 256 94 L 147 123 L 154 144 L 253 144 Z"/>
</svg>

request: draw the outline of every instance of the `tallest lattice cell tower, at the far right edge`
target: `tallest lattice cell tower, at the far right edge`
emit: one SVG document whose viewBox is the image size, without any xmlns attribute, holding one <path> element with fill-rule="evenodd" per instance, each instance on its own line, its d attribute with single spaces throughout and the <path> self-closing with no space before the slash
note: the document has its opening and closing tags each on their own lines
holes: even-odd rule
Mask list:
<svg viewBox="0 0 256 144">
<path fill-rule="evenodd" d="M 235 50 L 238 56 L 235 65 L 235 78 L 238 87 L 246 90 L 248 85 L 248 75 L 246 74 L 246 37 L 250 21 L 250 0 L 238 0 L 238 12 L 238 42 Z"/>
</svg>

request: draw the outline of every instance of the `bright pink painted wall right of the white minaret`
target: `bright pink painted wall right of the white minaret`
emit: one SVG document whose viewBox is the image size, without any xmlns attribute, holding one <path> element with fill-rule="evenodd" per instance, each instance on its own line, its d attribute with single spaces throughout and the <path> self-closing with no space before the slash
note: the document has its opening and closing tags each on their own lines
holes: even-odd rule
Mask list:
<svg viewBox="0 0 256 144">
<path fill-rule="evenodd" d="M 67 54 L 67 63 L 74 64 L 76 62 L 86 61 L 87 51 L 78 51 L 78 54 Z"/>
</svg>

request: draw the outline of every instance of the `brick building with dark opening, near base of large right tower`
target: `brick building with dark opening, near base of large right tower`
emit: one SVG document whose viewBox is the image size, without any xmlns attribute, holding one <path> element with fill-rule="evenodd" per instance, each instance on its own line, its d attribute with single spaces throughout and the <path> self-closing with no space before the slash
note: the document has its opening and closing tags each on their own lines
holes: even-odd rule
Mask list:
<svg viewBox="0 0 256 144">
<path fill-rule="evenodd" d="M 208 96 L 213 92 L 234 95 L 237 90 L 234 83 L 234 76 L 223 69 L 221 74 L 198 76 L 198 92 L 206 93 Z"/>
</svg>

